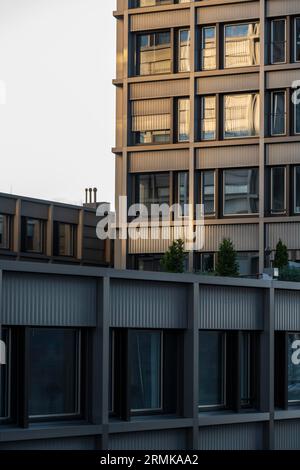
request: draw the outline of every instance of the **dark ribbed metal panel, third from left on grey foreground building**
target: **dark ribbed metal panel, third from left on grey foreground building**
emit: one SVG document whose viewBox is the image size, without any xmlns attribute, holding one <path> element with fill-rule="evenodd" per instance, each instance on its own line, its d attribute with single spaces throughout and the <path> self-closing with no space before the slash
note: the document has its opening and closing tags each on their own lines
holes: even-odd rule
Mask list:
<svg viewBox="0 0 300 470">
<path fill-rule="evenodd" d="M 200 286 L 199 328 L 263 329 L 263 290 Z"/>
</svg>

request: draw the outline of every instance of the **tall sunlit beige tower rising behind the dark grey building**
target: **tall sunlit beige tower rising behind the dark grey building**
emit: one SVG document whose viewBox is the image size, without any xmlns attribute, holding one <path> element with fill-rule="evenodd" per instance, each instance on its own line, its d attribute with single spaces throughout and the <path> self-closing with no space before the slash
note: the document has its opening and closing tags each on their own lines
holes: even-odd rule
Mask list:
<svg viewBox="0 0 300 470">
<path fill-rule="evenodd" d="M 203 204 L 190 270 L 213 269 L 225 237 L 242 274 L 280 238 L 299 261 L 299 1 L 118 0 L 114 15 L 117 212 L 120 195 Z M 157 269 L 181 235 L 170 217 L 167 240 L 120 240 L 116 267 Z"/>
</svg>

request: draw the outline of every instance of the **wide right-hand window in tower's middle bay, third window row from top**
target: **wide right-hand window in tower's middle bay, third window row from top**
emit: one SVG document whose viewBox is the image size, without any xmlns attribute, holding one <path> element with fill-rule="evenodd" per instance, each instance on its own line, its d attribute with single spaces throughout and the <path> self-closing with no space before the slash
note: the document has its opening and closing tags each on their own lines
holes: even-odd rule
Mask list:
<svg viewBox="0 0 300 470">
<path fill-rule="evenodd" d="M 258 213 L 258 175 L 257 168 L 224 170 L 224 215 Z"/>
</svg>

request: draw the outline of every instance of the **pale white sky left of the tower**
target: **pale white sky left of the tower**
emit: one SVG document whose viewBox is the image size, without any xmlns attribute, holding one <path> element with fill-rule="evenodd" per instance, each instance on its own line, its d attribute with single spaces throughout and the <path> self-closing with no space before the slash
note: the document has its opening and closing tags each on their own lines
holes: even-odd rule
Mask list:
<svg viewBox="0 0 300 470">
<path fill-rule="evenodd" d="M 0 0 L 0 192 L 114 201 L 115 0 Z"/>
</svg>

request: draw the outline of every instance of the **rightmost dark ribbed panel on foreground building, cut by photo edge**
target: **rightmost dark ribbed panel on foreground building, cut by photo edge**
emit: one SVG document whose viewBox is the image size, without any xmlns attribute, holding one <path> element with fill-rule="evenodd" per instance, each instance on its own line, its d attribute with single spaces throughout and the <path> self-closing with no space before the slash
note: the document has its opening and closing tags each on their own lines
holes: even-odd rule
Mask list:
<svg viewBox="0 0 300 470">
<path fill-rule="evenodd" d="M 275 329 L 300 331 L 300 292 L 275 290 Z"/>
</svg>

